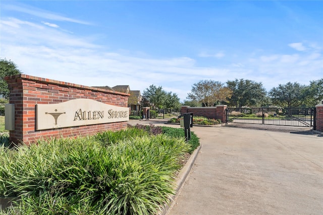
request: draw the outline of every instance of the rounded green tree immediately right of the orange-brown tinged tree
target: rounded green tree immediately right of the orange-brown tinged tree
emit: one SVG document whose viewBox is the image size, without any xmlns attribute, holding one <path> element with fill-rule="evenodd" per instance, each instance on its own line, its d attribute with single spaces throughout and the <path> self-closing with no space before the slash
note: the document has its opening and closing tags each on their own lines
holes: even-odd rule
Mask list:
<svg viewBox="0 0 323 215">
<path fill-rule="evenodd" d="M 232 90 L 232 96 L 229 105 L 237 108 L 244 106 L 260 105 L 261 101 L 266 99 L 266 90 L 262 87 L 262 83 L 251 80 L 236 79 L 235 81 L 227 81 L 227 86 Z"/>
</svg>

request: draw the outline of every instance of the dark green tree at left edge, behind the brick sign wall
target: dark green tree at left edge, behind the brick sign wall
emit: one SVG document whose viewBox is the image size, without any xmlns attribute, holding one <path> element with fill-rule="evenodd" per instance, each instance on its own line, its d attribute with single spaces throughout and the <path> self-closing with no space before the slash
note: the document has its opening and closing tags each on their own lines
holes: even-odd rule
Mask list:
<svg viewBox="0 0 323 215">
<path fill-rule="evenodd" d="M 11 60 L 0 59 L 0 97 L 9 99 L 8 84 L 4 80 L 6 76 L 21 74 L 18 66 Z"/>
</svg>

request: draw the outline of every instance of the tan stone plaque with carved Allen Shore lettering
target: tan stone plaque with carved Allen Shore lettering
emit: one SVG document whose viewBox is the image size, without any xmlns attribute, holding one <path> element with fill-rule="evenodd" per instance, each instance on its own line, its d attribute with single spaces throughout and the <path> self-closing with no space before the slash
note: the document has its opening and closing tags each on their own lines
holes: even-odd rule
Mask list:
<svg viewBox="0 0 323 215">
<path fill-rule="evenodd" d="M 129 108 L 91 99 L 36 105 L 36 130 L 75 127 L 129 120 Z"/>
</svg>

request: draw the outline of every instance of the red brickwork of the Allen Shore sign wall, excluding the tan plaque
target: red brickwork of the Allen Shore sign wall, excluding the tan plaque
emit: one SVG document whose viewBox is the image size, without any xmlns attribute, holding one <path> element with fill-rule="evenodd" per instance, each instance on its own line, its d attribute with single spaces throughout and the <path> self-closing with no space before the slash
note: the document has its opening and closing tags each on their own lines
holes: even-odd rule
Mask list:
<svg viewBox="0 0 323 215">
<path fill-rule="evenodd" d="M 15 130 L 10 140 L 30 145 L 40 137 L 84 136 L 104 130 L 120 130 L 127 121 L 35 131 L 35 105 L 56 104 L 73 99 L 92 99 L 105 104 L 128 107 L 129 94 L 28 75 L 5 77 L 10 90 L 10 104 L 15 105 Z"/>
</svg>

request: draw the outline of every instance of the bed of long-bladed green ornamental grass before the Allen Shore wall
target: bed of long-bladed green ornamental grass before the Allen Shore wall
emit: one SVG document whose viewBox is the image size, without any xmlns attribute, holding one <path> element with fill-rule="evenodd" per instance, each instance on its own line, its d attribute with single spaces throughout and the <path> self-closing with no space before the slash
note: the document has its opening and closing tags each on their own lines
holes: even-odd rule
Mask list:
<svg viewBox="0 0 323 215">
<path fill-rule="evenodd" d="M 4 214 L 156 213 L 190 146 L 166 134 L 128 134 L 137 132 L 0 147 L 0 196 L 20 198 Z"/>
</svg>

